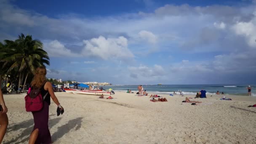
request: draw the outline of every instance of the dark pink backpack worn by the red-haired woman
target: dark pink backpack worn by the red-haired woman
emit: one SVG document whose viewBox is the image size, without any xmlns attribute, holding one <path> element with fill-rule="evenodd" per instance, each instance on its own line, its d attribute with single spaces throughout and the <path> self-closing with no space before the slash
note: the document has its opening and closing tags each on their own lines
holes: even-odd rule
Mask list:
<svg viewBox="0 0 256 144">
<path fill-rule="evenodd" d="M 27 112 L 40 111 L 43 108 L 43 100 L 48 92 L 42 96 L 40 88 L 33 89 L 25 96 L 25 107 Z"/>
</svg>

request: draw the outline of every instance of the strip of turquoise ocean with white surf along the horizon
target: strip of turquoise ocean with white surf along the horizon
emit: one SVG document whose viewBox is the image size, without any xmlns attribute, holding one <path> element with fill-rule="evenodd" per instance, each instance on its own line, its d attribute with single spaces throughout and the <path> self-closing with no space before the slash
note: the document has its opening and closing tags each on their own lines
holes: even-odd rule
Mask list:
<svg viewBox="0 0 256 144">
<path fill-rule="evenodd" d="M 254 84 L 255 85 L 255 84 Z M 178 91 L 182 91 L 182 93 L 193 94 L 195 95 L 201 89 L 204 89 L 208 94 L 216 94 L 217 91 L 220 93 L 223 92 L 225 95 L 240 95 L 247 96 L 248 90 L 246 89 L 248 85 L 142 85 L 143 89 L 148 92 L 156 92 L 156 93 L 167 93 L 172 94 L 173 91 L 179 93 Z M 252 96 L 256 96 L 255 86 L 250 85 L 252 88 Z M 103 86 L 103 88 L 108 89 L 112 88 L 113 91 L 127 91 L 128 89 L 137 92 L 138 85 L 108 85 Z"/>
</svg>

